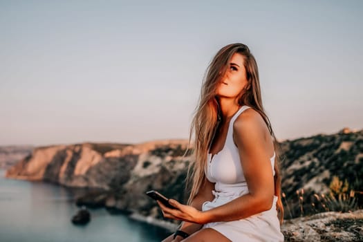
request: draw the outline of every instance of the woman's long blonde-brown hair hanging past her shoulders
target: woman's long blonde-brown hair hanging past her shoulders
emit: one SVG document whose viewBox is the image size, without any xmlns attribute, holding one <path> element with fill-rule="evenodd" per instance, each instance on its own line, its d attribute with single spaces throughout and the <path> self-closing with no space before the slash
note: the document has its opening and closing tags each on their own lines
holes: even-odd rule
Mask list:
<svg viewBox="0 0 363 242">
<path fill-rule="evenodd" d="M 229 44 L 221 48 L 221 50 L 216 53 L 205 72 L 201 88 L 201 96 L 198 100 L 198 106 L 196 106 L 196 110 L 194 111 L 194 118 L 192 120 L 189 133 L 189 145 L 193 133 L 195 140 L 194 151 L 192 153 L 194 161 L 189 163 L 186 178 L 187 187 L 190 189 L 187 203 L 189 205 L 192 203 L 202 186 L 203 180 L 205 179 L 204 172 L 207 163 L 207 152 L 212 144 L 214 132 L 218 128 L 218 118 L 221 116 L 218 100 L 216 100 L 215 95 L 216 88 L 217 84 L 221 80 L 221 77 L 223 77 L 225 71 L 227 71 L 228 63 L 230 63 L 230 59 L 234 53 L 243 55 L 246 77 L 248 80 L 248 89 L 241 92 L 238 99 L 239 105 L 247 105 L 258 111 L 263 120 L 266 122 L 274 140 L 274 150 L 276 153 L 274 162 L 274 194 L 278 196 L 277 212 L 279 221 L 282 224 L 283 205 L 281 202 L 281 176 L 279 171 L 279 142 L 277 142 L 274 132 L 272 131 L 270 120 L 263 110 L 257 62 L 252 53 L 250 53 L 248 46 L 245 44 Z"/>
</svg>

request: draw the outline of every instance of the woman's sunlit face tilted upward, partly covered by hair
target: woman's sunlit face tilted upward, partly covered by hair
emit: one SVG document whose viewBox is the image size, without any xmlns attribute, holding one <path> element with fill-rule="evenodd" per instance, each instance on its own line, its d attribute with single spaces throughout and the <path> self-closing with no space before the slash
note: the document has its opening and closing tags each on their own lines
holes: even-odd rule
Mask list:
<svg viewBox="0 0 363 242">
<path fill-rule="evenodd" d="M 216 95 L 219 97 L 237 97 L 248 84 L 243 56 L 234 53 L 227 65 L 227 71 L 217 86 Z"/>
</svg>

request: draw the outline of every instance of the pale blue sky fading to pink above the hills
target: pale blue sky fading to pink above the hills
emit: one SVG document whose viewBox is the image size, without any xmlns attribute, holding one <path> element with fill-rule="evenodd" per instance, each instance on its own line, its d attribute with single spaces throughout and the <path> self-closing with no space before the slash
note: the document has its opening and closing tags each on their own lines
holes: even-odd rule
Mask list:
<svg viewBox="0 0 363 242">
<path fill-rule="evenodd" d="M 363 129 L 363 1 L 0 0 L 0 145 L 187 139 L 247 44 L 278 140 Z"/>
</svg>

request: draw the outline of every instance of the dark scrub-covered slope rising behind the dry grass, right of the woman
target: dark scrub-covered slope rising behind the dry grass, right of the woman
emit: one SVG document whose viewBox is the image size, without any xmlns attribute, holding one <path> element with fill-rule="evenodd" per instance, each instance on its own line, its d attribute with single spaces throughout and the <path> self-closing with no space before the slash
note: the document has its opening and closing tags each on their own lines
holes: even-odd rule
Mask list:
<svg viewBox="0 0 363 242">
<path fill-rule="evenodd" d="M 304 211 L 313 213 L 312 203 L 320 203 L 313 194 L 329 192 L 333 176 L 360 192 L 356 196 L 362 205 L 363 130 L 343 129 L 331 135 L 286 140 L 281 151 L 282 191 L 292 205 L 292 216 L 300 214 L 300 196 L 304 197 Z"/>
</svg>

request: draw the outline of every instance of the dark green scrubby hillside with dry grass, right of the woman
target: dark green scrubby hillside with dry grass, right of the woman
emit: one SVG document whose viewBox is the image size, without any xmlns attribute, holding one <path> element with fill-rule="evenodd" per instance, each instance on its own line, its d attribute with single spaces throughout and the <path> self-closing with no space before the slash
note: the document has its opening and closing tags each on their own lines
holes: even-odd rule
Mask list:
<svg viewBox="0 0 363 242">
<path fill-rule="evenodd" d="M 363 207 L 362 154 L 363 130 L 281 143 L 286 218 Z M 315 192 L 326 191 L 327 187 L 329 190 L 324 194 Z"/>
</svg>

